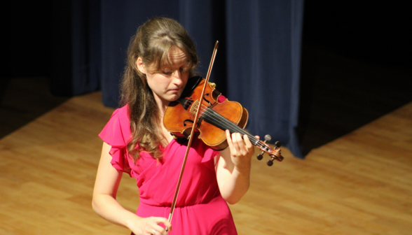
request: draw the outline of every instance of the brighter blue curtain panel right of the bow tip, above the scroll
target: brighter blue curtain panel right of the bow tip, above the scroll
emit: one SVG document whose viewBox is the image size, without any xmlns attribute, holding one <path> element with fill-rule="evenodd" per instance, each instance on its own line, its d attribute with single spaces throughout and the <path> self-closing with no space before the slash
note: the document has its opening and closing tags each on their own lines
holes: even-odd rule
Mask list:
<svg viewBox="0 0 412 235">
<path fill-rule="evenodd" d="M 250 113 L 247 129 L 303 157 L 296 134 L 303 0 L 227 1 L 228 97 Z"/>
</svg>

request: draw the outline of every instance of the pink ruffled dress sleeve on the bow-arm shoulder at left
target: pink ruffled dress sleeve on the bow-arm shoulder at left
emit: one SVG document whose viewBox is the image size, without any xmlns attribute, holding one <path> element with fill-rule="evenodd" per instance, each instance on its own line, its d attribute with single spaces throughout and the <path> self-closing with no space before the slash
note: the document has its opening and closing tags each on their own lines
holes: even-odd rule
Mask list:
<svg viewBox="0 0 412 235">
<path fill-rule="evenodd" d="M 127 106 L 118 108 L 106 126 L 100 132 L 99 137 L 111 145 L 109 154 L 111 155 L 111 164 L 114 168 L 128 173 L 130 175 L 130 166 L 128 162 L 128 150 L 126 145 L 130 140 L 130 119 L 127 115 Z"/>
</svg>

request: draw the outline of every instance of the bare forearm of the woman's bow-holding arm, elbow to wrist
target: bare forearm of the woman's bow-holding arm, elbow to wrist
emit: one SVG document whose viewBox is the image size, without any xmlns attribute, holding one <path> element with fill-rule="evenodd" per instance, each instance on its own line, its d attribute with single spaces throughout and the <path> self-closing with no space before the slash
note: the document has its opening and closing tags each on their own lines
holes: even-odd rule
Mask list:
<svg viewBox="0 0 412 235">
<path fill-rule="evenodd" d="M 119 204 L 114 197 L 107 194 L 94 195 L 92 200 L 92 208 L 97 215 L 101 216 L 105 220 L 126 228 L 130 228 L 130 223 L 133 221 L 142 219 L 135 213 L 123 208 L 123 206 L 121 206 L 121 204 Z"/>
</svg>

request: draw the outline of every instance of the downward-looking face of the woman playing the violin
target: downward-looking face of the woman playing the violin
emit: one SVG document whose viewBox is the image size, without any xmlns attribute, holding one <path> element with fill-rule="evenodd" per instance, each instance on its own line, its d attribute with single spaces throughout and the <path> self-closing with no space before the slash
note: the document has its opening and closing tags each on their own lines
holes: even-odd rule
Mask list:
<svg viewBox="0 0 412 235">
<path fill-rule="evenodd" d="M 161 71 L 150 72 L 144 68 L 142 59 L 137 59 L 137 68 L 146 74 L 147 83 L 159 105 L 167 106 L 170 101 L 179 99 L 188 80 L 188 57 L 180 48 L 170 48 L 170 64 L 162 64 Z"/>
</svg>

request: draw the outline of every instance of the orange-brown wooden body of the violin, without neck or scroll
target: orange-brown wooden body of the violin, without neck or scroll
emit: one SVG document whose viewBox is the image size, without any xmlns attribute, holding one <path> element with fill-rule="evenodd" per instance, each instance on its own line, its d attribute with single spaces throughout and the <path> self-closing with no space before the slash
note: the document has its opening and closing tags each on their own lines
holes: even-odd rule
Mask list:
<svg viewBox="0 0 412 235">
<path fill-rule="evenodd" d="M 195 79 L 196 81 L 193 82 L 198 83 L 198 86 L 188 97 L 182 95 L 177 101 L 170 102 L 165 113 L 165 127 L 174 136 L 187 138 L 193 128 L 195 112 L 200 107 L 202 115 L 195 124 L 196 130 L 200 132 L 198 138 L 214 150 L 224 150 L 228 147 L 224 131 L 227 129 L 227 121 L 244 129 L 249 113 L 238 102 L 226 99 L 219 103 L 220 92 L 211 84 L 207 84 L 203 99 L 199 99 L 205 79 L 200 77 L 191 79 Z"/>
</svg>

